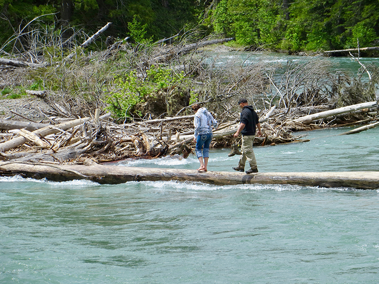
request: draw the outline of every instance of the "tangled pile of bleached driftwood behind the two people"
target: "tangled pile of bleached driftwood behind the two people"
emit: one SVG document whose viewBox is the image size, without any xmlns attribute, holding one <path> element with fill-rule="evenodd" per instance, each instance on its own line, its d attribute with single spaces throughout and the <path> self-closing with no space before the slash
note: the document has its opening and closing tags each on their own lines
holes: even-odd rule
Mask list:
<svg viewBox="0 0 379 284">
<path fill-rule="evenodd" d="M 255 146 L 308 141 L 300 139 L 305 135 L 293 136 L 293 131 L 373 122 L 351 132 L 357 133 L 379 124 L 375 101 L 322 112 L 320 109 L 302 108 L 297 114 L 293 109 L 292 115 L 275 107 L 258 112 L 263 133 L 256 137 Z M 175 154 L 187 158 L 194 153 L 193 117 L 116 124 L 109 120 L 110 114 L 99 116 L 96 111 L 91 118 L 50 119 L 48 124 L 0 120 L 0 161 L 87 164 Z M 238 121 L 220 123 L 213 132 L 211 147 L 235 143 L 232 134 L 238 125 Z"/>
</svg>

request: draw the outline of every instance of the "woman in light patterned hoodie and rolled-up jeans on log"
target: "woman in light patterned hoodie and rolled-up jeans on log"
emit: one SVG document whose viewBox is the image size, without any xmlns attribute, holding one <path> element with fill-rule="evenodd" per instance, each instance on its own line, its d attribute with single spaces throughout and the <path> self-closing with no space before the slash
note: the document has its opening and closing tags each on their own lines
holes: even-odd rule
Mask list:
<svg viewBox="0 0 379 284">
<path fill-rule="evenodd" d="M 199 159 L 200 167 L 198 171 L 207 171 L 208 159 L 209 159 L 209 146 L 212 141 L 212 125 L 214 129 L 217 129 L 217 122 L 212 117 L 211 113 L 206 108 L 202 108 L 198 104 L 192 106 L 192 110 L 195 113 L 194 126 L 196 141 L 196 156 Z M 203 148 L 203 151 L 202 151 Z M 203 153 L 202 153 L 203 152 Z M 203 161 L 204 157 L 204 161 Z"/>
</svg>

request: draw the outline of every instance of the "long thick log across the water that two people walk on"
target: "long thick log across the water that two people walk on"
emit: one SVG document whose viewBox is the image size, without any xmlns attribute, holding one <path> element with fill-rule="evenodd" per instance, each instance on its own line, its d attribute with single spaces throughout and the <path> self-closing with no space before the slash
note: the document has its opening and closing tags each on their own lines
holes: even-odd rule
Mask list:
<svg viewBox="0 0 379 284">
<path fill-rule="evenodd" d="M 0 162 L 0 175 L 46 178 L 51 181 L 86 179 L 100 184 L 120 184 L 127 181 L 174 180 L 203 182 L 213 185 L 289 184 L 318 187 L 379 189 L 379 171 L 354 172 L 242 172 L 195 169 L 129 167 L 108 164 L 56 165 L 43 163 Z"/>
</svg>

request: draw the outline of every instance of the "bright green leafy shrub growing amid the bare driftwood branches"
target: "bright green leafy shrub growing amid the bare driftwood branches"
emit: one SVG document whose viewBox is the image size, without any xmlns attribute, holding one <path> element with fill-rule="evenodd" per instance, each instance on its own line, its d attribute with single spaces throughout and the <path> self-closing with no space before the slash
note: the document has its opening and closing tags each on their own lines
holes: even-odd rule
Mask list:
<svg viewBox="0 0 379 284">
<path fill-rule="evenodd" d="M 142 80 L 135 71 L 125 74 L 125 77 L 115 79 L 116 91 L 106 98 L 108 109 L 116 118 L 130 117 L 135 106 L 154 97 L 159 91 L 172 91 L 175 84 L 185 79 L 184 73 L 173 73 L 172 70 L 151 66 Z"/>
</svg>

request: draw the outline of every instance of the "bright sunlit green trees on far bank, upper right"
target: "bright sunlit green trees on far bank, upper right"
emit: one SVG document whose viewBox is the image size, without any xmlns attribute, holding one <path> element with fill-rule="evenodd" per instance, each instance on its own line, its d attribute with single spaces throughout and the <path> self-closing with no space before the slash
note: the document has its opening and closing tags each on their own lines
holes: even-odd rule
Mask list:
<svg viewBox="0 0 379 284">
<path fill-rule="evenodd" d="M 371 0 L 221 0 L 213 24 L 244 46 L 341 49 L 379 41 L 378 10 Z"/>
</svg>

